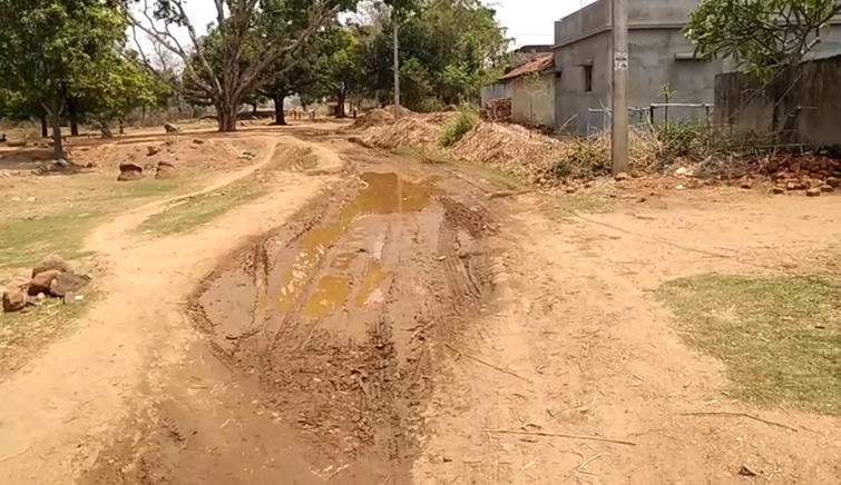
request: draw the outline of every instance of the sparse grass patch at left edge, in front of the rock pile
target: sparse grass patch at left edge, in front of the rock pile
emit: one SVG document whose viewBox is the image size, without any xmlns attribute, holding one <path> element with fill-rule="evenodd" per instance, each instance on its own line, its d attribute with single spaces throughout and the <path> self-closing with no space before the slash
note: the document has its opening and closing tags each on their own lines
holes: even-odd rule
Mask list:
<svg viewBox="0 0 841 485">
<path fill-rule="evenodd" d="M 65 305 L 59 298 L 11 314 L 0 311 L 0 375 L 23 367 L 40 349 L 72 328 L 99 298 L 97 291 L 82 291 L 84 299 Z"/>
</svg>

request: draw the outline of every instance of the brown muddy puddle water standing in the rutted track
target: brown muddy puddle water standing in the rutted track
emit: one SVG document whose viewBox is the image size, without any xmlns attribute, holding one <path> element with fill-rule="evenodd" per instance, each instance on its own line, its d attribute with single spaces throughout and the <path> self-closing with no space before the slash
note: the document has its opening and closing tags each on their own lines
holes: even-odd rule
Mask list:
<svg viewBox="0 0 841 485">
<path fill-rule="evenodd" d="M 411 182 L 404 180 L 394 172 L 380 174 L 371 171 L 364 172 L 360 177 L 362 178 L 364 186 L 360 189 L 356 197 L 342 208 L 339 216 L 326 224 L 314 227 L 301 238 L 301 254 L 297 255 L 292 268 L 285 275 L 283 280 L 284 285 L 281 288 L 280 306 L 282 311 L 289 310 L 294 303 L 297 293 L 301 290 L 301 286 L 306 279 L 306 275 L 309 275 L 317 263 L 324 258 L 327 248 L 335 244 L 339 237 L 348 230 L 350 225 L 358 217 L 374 214 L 417 212 L 429 205 L 431 195 L 434 190 L 433 182 L 430 180 Z M 341 258 L 341 261 L 338 263 L 338 265 L 348 265 L 348 267 L 350 267 L 352 258 L 345 258 L 344 256 L 346 256 L 346 254 L 339 256 L 338 259 Z M 363 293 L 369 294 L 364 299 L 368 299 L 370 293 L 377 288 L 377 285 L 369 284 L 372 289 L 362 291 L 365 289 L 365 281 L 368 281 L 369 278 L 378 278 L 375 274 L 373 274 L 374 276 L 369 276 L 372 268 L 373 265 L 365 274 L 363 288 L 360 289 L 360 295 Z M 382 269 L 379 269 L 379 271 L 382 273 Z M 384 274 L 379 276 L 380 281 L 383 277 Z M 324 278 L 322 281 L 323 280 Z M 313 295 L 311 301 L 307 303 L 307 309 L 313 300 L 321 301 L 321 299 L 324 299 L 319 298 L 317 295 L 321 293 L 322 281 L 319 283 L 316 295 Z M 350 291 L 350 281 L 348 281 L 345 284 L 348 291 Z M 342 297 L 342 301 L 344 301 L 345 297 L 346 295 Z M 305 313 L 306 311 L 307 310 L 305 309 Z"/>
</svg>

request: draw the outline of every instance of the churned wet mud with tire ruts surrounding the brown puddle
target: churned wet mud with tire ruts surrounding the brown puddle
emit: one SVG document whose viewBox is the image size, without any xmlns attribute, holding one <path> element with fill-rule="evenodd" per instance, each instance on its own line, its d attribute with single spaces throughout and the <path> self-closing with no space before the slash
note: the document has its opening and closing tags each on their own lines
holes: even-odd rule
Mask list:
<svg viewBox="0 0 841 485">
<path fill-rule="evenodd" d="M 295 429 L 313 469 L 408 483 L 434 344 L 489 297 L 493 228 L 475 187 L 359 169 L 219 267 L 193 311 L 215 354 L 254 376 L 262 406 Z"/>
</svg>

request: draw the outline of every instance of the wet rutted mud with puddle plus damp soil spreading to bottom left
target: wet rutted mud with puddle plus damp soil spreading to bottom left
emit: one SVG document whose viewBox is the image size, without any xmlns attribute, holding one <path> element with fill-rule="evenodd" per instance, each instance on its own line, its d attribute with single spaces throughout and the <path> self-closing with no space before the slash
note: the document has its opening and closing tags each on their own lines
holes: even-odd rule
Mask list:
<svg viewBox="0 0 841 485">
<path fill-rule="evenodd" d="M 352 161 L 350 180 L 233 255 L 194 296 L 196 325 L 228 368 L 196 392 L 209 393 L 221 423 L 190 416 L 196 408 L 175 392 L 89 483 L 125 479 L 117 469 L 144 483 L 265 483 L 278 473 L 409 483 L 437 344 L 492 291 L 493 225 L 473 185 Z M 204 379 L 206 368 L 185 373 Z M 281 449 L 286 459 L 273 454 Z"/>
</svg>

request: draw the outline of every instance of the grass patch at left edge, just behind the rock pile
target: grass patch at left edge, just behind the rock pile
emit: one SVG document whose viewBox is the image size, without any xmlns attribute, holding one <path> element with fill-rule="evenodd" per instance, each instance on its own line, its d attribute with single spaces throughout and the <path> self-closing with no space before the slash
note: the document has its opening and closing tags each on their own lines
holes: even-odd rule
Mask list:
<svg viewBox="0 0 841 485">
<path fill-rule="evenodd" d="M 85 256 L 85 237 L 102 215 L 104 211 L 99 209 L 68 210 L 0 220 L 0 268 L 30 266 L 52 253 L 66 259 Z"/>
</svg>

